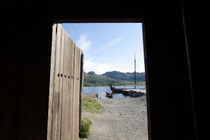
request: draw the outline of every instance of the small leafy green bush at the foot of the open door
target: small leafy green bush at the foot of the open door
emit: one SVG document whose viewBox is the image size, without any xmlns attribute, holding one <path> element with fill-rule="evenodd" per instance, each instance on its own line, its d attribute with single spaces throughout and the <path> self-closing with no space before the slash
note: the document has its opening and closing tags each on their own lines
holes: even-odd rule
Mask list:
<svg viewBox="0 0 210 140">
<path fill-rule="evenodd" d="M 80 140 L 87 140 L 88 135 L 90 134 L 90 126 L 92 122 L 89 118 L 83 118 L 81 121 L 81 131 L 79 133 Z"/>
</svg>

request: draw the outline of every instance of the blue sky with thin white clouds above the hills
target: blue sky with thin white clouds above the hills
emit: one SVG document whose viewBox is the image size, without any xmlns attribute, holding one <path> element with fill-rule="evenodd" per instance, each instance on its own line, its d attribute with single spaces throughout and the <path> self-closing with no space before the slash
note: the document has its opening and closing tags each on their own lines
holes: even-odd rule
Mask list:
<svg viewBox="0 0 210 140">
<path fill-rule="evenodd" d="M 83 50 L 84 71 L 144 72 L 141 23 L 64 23 L 62 26 Z"/>
</svg>

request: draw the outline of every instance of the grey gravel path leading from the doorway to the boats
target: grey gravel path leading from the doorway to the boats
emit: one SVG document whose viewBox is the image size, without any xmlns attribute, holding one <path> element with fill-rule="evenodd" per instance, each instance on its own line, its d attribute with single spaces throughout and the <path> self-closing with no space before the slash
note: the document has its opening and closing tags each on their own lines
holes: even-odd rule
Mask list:
<svg viewBox="0 0 210 140">
<path fill-rule="evenodd" d="M 82 113 L 93 122 L 89 140 L 148 140 L 145 96 L 97 101 L 103 113 Z"/>
</svg>

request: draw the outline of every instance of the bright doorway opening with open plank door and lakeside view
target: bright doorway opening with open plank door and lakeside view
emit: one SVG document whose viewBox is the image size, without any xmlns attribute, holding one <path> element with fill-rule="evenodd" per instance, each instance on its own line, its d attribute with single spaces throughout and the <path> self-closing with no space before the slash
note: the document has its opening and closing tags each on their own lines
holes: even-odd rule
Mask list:
<svg viewBox="0 0 210 140">
<path fill-rule="evenodd" d="M 60 138 L 77 139 L 80 136 L 80 138 L 88 137 L 90 140 L 148 140 L 142 23 L 63 23 L 59 26 L 65 30 L 63 32 L 68 37 L 59 36 L 59 31 L 56 30 L 56 39 L 60 37 L 64 40 L 64 46 L 74 44 L 78 46 L 75 48 L 81 49 L 77 56 L 78 61 L 75 50 L 69 56 L 66 55 L 71 52 L 71 49 L 62 50 L 64 56 L 62 60 L 57 60 L 62 62 L 60 66 L 73 60 L 72 67 L 79 67 L 72 70 L 74 73 L 76 71 L 79 73 L 78 85 L 73 86 L 73 90 L 78 90 L 78 96 L 72 92 L 75 95 L 72 98 L 68 97 L 68 95 L 72 96 L 68 91 L 71 91 L 72 87 L 68 85 L 74 85 L 75 81 L 66 81 L 63 87 L 68 88 L 62 89 L 61 93 L 64 101 L 59 99 L 61 104 L 61 127 L 58 130 Z M 53 41 L 59 44 L 59 39 Z M 62 44 L 62 41 L 60 42 Z M 71 74 L 68 76 L 71 77 Z M 57 99 L 55 96 L 54 98 Z M 52 99 L 52 102 L 53 100 L 55 99 Z M 74 113 L 76 115 L 66 115 Z M 59 115 L 55 118 L 59 121 Z M 71 118 L 75 119 L 76 127 Z M 48 122 L 49 133 L 52 122 L 49 120 Z M 68 129 L 65 125 L 62 127 L 65 123 L 73 126 Z M 48 139 L 51 139 L 50 137 L 55 136 L 51 133 L 48 134 Z"/>
</svg>

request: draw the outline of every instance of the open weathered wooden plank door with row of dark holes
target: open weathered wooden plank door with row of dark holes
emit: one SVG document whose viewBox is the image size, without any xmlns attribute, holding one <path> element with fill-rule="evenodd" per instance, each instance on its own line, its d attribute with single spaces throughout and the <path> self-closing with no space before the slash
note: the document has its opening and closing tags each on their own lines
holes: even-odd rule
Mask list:
<svg viewBox="0 0 210 140">
<path fill-rule="evenodd" d="M 53 25 L 48 140 L 78 140 L 82 51 L 61 24 Z"/>
</svg>

